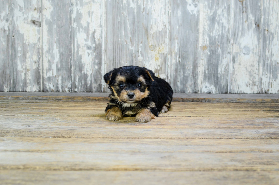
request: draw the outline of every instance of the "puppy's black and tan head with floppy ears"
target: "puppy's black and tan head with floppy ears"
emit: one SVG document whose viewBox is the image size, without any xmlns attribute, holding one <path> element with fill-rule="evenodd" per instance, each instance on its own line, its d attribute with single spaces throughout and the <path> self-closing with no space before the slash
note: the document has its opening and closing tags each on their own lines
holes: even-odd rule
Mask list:
<svg viewBox="0 0 279 185">
<path fill-rule="evenodd" d="M 115 68 L 104 75 L 104 81 L 112 91 L 112 98 L 124 103 L 136 103 L 149 95 L 148 87 L 154 73 L 138 66 Z"/>
</svg>

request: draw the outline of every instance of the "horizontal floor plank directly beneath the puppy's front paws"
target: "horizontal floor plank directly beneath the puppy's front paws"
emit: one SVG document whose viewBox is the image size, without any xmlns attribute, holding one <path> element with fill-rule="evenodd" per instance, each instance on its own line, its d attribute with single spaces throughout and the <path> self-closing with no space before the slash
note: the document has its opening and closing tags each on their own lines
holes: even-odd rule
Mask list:
<svg viewBox="0 0 279 185">
<path fill-rule="evenodd" d="M 278 139 L 278 118 L 156 117 L 137 123 L 133 117 L 106 121 L 90 116 L 1 115 L 1 137 Z"/>
</svg>

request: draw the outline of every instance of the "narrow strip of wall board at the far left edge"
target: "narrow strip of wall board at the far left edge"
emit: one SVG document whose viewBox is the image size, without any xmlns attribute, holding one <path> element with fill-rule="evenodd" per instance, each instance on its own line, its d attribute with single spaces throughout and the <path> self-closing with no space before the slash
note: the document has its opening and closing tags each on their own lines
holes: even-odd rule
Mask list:
<svg viewBox="0 0 279 185">
<path fill-rule="evenodd" d="M 12 91 L 10 60 L 10 2 L 0 1 L 0 92 Z"/>
</svg>

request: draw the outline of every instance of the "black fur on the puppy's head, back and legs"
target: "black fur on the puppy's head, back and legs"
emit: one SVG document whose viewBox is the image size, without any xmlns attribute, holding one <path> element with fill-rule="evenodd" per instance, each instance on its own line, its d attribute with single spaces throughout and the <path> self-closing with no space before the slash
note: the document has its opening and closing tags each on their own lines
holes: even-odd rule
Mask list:
<svg viewBox="0 0 279 185">
<path fill-rule="evenodd" d="M 127 107 L 127 104 L 120 101 L 113 92 L 114 89 L 116 91 L 116 94 L 119 96 L 122 90 L 124 90 L 118 88 L 119 82 L 116 81 L 117 76 L 122 76 L 126 79 L 124 83 L 125 90 L 128 89 L 132 91 L 138 88 L 138 90 L 143 93 L 147 88 L 147 91 L 149 91 L 149 95 L 147 97 L 144 97 L 140 101 L 137 101 L 137 104 L 134 107 Z M 137 80 L 140 76 L 143 76 L 145 80 L 145 84 L 142 85 L 141 88 L 137 86 Z M 108 111 L 108 109 L 116 106 L 120 108 L 124 116 L 125 113 L 129 111 L 135 113 L 129 116 L 135 116 L 137 114 L 137 111 L 141 110 L 142 108 L 149 108 L 151 113 L 153 113 L 155 116 L 158 116 L 158 113 L 162 110 L 164 105 L 168 104 L 168 108 L 171 105 L 171 101 L 173 99 L 173 90 L 171 86 L 165 80 L 155 77 L 155 74 L 149 69 L 138 66 L 124 66 L 111 70 L 110 72 L 105 74 L 103 78 L 104 81 L 109 85 L 108 88 L 111 91 L 109 95 L 110 102 L 106 107 L 106 112 Z M 155 103 L 155 106 L 150 106 L 152 102 Z"/>
</svg>

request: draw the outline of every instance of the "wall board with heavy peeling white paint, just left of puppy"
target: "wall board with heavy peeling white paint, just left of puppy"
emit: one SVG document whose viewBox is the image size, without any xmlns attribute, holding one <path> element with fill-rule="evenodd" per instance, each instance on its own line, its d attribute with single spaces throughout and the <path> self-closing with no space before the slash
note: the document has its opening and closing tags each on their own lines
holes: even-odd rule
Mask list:
<svg viewBox="0 0 279 185">
<path fill-rule="evenodd" d="M 71 92 L 102 91 L 102 1 L 71 2 Z"/>
</svg>

